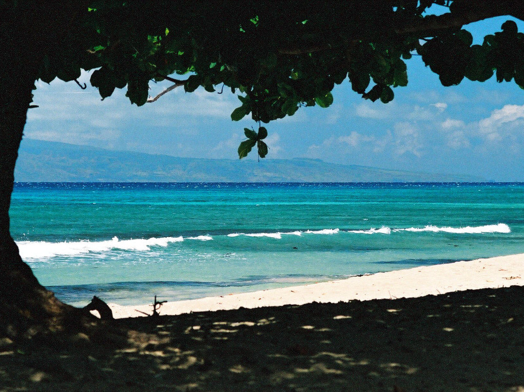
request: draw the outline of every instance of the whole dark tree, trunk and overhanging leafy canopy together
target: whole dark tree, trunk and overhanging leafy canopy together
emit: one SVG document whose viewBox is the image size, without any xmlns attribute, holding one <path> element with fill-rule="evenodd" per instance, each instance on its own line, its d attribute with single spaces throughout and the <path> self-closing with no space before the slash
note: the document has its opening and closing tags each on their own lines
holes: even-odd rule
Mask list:
<svg viewBox="0 0 524 392">
<path fill-rule="evenodd" d="M 506 21 L 482 45 L 472 45 L 467 31 L 486 18 L 524 20 L 519 0 L 3 0 L 0 15 L 0 328 L 10 336 L 83 317 L 38 283 L 9 233 L 36 80 L 78 82 L 82 70 L 92 70 L 102 99 L 127 88 L 136 105 L 156 100 L 149 99 L 152 82 L 170 82 L 166 91 L 231 90 L 239 99 L 231 118 L 250 115 L 258 123 L 256 131 L 245 128 L 241 158 L 255 146 L 267 154 L 261 123 L 303 106 L 330 106 L 336 84 L 390 102 L 408 83 L 413 55 L 445 86 L 495 75 L 524 88 L 524 35 L 516 24 Z"/>
</svg>

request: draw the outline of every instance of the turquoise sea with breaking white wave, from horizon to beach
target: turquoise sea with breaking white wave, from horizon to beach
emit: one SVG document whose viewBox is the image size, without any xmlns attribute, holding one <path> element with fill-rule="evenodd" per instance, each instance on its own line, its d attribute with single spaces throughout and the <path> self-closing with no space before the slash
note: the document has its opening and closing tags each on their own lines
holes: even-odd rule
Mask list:
<svg viewBox="0 0 524 392">
<path fill-rule="evenodd" d="M 524 253 L 522 183 L 16 183 L 11 232 L 82 306 Z"/>
</svg>

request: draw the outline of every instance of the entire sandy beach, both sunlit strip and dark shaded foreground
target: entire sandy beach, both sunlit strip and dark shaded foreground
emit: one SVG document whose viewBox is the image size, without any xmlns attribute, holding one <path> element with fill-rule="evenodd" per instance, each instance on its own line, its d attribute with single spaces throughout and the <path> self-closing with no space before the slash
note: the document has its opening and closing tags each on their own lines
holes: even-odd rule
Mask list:
<svg viewBox="0 0 524 392">
<path fill-rule="evenodd" d="M 523 274 L 514 255 L 166 303 L 156 318 L 112 305 L 132 317 L 0 336 L 0 392 L 524 392 Z"/>
</svg>

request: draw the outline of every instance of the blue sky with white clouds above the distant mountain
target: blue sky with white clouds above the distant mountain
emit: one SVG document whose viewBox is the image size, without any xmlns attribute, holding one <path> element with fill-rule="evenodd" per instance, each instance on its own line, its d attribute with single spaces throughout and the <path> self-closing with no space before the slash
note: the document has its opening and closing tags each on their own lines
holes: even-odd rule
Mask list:
<svg viewBox="0 0 524 392">
<path fill-rule="evenodd" d="M 466 26 L 474 43 L 500 31 L 507 17 Z M 524 23 L 515 20 L 519 31 Z M 351 90 L 346 79 L 333 91 L 328 108 L 303 107 L 266 125 L 265 159 L 315 158 L 344 165 L 453 175 L 493 181 L 524 181 L 524 90 L 515 82 L 467 79 L 443 87 L 420 56 L 406 60 L 409 83 L 395 88 L 388 103 L 370 102 Z M 246 116 L 231 121 L 241 103 L 223 94 L 177 88 L 154 103 L 130 104 L 124 90 L 103 102 L 89 85 L 90 74 L 74 82 L 37 81 L 25 138 L 60 141 L 114 150 L 191 158 L 238 159 Z M 151 95 L 169 82 L 151 83 Z M 257 165 L 254 152 L 248 159 Z"/>
</svg>

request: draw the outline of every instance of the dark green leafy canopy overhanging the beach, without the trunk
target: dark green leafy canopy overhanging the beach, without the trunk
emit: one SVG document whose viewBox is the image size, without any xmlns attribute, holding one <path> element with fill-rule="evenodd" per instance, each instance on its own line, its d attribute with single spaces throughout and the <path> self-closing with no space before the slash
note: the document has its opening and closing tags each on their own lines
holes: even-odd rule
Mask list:
<svg viewBox="0 0 524 392">
<path fill-rule="evenodd" d="M 148 101 L 150 82 L 167 80 L 186 92 L 227 89 L 239 99 L 231 118 L 250 115 L 258 123 L 291 116 L 303 106 L 328 107 L 335 84 L 344 82 L 364 99 L 390 102 L 393 89 L 408 84 L 406 60 L 413 55 L 422 56 L 444 86 L 495 74 L 499 82 L 514 80 L 524 88 L 524 34 L 513 21 L 482 45 L 472 45 L 463 28 L 500 15 L 522 18 L 524 5 L 93 1 L 43 58 L 38 78 L 72 81 L 81 69 L 95 69 L 91 84 L 102 99 L 127 86 L 126 96 L 137 105 Z M 256 144 L 264 157 L 266 128 L 245 128 L 245 135 L 239 157 Z"/>
</svg>

